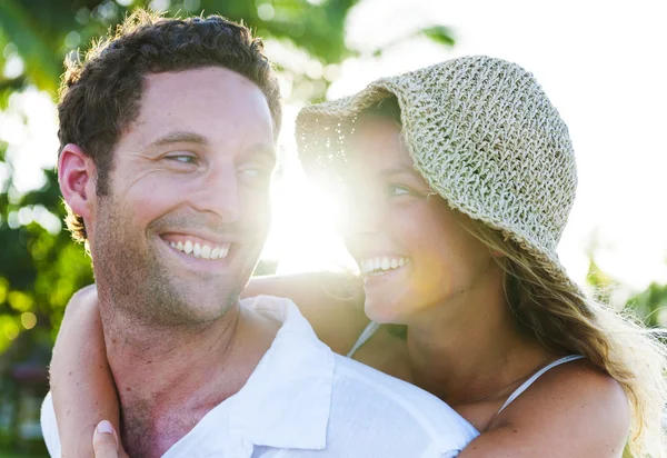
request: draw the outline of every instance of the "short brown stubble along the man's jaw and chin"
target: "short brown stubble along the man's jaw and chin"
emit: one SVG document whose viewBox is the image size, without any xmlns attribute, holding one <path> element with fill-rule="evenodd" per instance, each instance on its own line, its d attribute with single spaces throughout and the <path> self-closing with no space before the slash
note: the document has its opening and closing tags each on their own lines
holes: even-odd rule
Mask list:
<svg viewBox="0 0 667 458">
<path fill-rule="evenodd" d="M 220 318 L 238 302 L 240 289 L 222 281 L 206 298 L 196 285 L 178 278 L 142 230 L 108 207 L 94 231 L 92 258 L 98 290 L 107 317 L 127 326 L 200 327 Z M 207 288 L 208 289 L 208 288 Z M 103 303 L 107 299 L 110 303 Z M 208 303 L 205 303 L 208 302 Z"/>
</svg>

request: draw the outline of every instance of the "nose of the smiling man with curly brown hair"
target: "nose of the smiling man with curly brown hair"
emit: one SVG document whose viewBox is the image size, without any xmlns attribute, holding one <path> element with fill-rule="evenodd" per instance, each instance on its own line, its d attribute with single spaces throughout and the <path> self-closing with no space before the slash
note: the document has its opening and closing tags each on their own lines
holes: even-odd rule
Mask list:
<svg viewBox="0 0 667 458">
<path fill-rule="evenodd" d="M 192 207 L 198 211 L 216 213 L 225 223 L 237 222 L 241 213 L 241 202 L 236 168 L 211 169 L 198 181 Z"/>
</svg>

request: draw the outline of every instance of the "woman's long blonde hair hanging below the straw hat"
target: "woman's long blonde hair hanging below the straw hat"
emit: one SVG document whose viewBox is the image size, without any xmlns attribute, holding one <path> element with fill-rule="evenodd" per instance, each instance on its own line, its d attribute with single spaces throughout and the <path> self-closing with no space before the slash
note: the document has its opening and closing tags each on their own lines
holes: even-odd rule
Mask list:
<svg viewBox="0 0 667 458">
<path fill-rule="evenodd" d="M 624 388 L 631 412 L 626 454 L 666 457 L 667 346 L 665 331 L 587 299 L 547 273 L 518 243 L 482 222 L 464 227 L 490 250 L 506 272 L 505 293 L 521 328 L 545 347 L 584 355 Z"/>
</svg>

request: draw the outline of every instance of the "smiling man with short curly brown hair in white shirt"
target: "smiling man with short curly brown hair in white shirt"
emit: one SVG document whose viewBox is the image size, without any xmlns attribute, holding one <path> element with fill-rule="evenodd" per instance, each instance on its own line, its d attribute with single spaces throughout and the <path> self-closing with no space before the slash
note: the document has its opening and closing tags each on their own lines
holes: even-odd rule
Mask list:
<svg viewBox="0 0 667 458">
<path fill-rule="evenodd" d="M 130 456 L 440 457 L 475 437 L 432 396 L 336 356 L 293 303 L 239 301 L 281 116 L 248 29 L 135 13 L 71 66 L 59 116 L 68 226 L 93 260 Z M 42 428 L 60 456 L 50 398 Z"/>
</svg>

